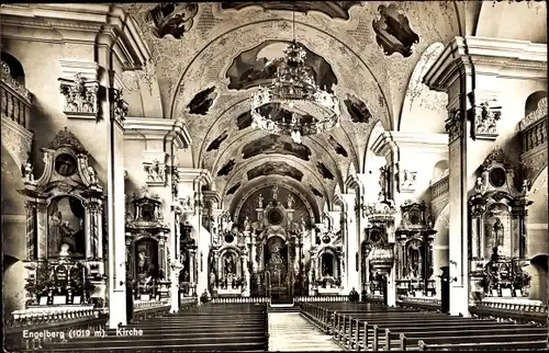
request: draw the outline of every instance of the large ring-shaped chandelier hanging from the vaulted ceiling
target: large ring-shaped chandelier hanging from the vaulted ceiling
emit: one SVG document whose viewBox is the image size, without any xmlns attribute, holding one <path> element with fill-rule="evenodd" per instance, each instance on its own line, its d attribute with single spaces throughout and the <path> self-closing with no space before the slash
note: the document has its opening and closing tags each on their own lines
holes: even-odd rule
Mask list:
<svg viewBox="0 0 549 353">
<path fill-rule="evenodd" d="M 305 66 L 305 49 L 295 42 L 295 11 L 292 11 L 293 42 L 278 59 L 277 73 L 268 87 L 259 87 L 251 100 L 251 126 L 270 134 L 302 137 L 339 126 L 339 101 L 316 84 L 314 71 Z M 291 115 L 288 116 L 290 112 Z"/>
</svg>

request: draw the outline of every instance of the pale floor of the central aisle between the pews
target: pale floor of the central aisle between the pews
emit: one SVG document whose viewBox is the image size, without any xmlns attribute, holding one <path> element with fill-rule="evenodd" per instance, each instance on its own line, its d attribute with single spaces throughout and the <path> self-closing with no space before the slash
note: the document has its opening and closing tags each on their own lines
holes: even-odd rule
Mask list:
<svg viewBox="0 0 549 353">
<path fill-rule="evenodd" d="M 299 312 L 269 312 L 269 351 L 341 351 Z"/>
</svg>

